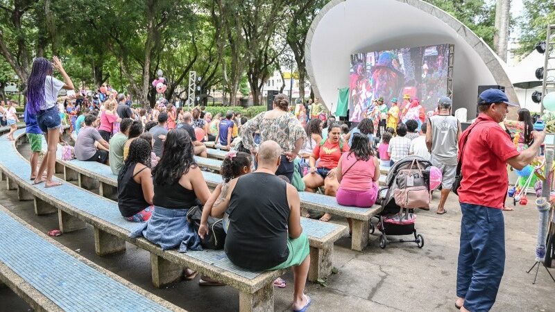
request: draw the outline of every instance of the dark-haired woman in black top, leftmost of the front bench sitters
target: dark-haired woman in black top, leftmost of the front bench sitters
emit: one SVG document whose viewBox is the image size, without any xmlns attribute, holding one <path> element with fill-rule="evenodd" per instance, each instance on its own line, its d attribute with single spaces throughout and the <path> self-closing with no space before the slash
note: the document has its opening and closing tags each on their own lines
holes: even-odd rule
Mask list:
<svg viewBox="0 0 555 312">
<path fill-rule="evenodd" d="M 133 222 L 148 221 L 154 210 L 151 151 L 152 145 L 144 139 L 131 142 L 129 155 L 117 175 L 119 212 Z"/>
</svg>

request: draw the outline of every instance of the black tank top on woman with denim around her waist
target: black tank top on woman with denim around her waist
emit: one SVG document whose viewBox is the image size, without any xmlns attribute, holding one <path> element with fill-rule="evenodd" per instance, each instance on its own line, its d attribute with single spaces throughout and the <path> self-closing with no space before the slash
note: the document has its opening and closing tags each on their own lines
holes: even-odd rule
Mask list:
<svg viewBox="0 0 555 312">
<path fill-rule="evenodd" d="M 157 185 L 154 182 L 155 206 L 167 209 L 189 209 L 200 204 L 193 190 L 185 189 L 178 181 L 171 185 Z"/>
</svg>

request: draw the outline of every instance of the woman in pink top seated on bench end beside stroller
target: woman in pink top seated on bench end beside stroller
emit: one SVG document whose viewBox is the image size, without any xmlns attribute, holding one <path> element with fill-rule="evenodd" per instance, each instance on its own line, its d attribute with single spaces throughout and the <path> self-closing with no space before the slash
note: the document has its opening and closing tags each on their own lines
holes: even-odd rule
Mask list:
<svg viewBox="0 0 555 312">
<path fill-rule="evenodd" d="M 379 163 L 366 135 L 355 133 L 349 152 L 343 153 L 336 169 L 339 189 L 337 203 L 343 206 L 369 208 L 377 198 Z M 351 219 L 349 229 L 352 228 Z"/>
</svg>

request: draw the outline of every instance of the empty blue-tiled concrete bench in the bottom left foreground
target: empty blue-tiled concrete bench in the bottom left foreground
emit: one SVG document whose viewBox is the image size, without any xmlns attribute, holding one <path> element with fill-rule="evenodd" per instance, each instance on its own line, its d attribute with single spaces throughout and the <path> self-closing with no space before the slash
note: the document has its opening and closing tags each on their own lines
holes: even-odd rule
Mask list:
<svg viewBox="0 0 555 312">
<path fill-rule="evenodd" d="M 35 311 L 184 311 L 97 266 L 0 206 L 0 284 Z"/>
</svg>

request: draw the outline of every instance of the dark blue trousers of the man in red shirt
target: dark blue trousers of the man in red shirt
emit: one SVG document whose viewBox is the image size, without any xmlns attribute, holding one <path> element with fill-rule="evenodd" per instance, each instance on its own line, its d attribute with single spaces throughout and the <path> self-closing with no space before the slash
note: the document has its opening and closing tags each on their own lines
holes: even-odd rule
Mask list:
<svg viewBox="0 0 555 312">
<path fill-rule="evenodd" d="M 468 311 L 489 311 L 505 268 L 505 223 L 501 209 L 461 202 L 461 250 L 456 295 Z"/>
</svg>

